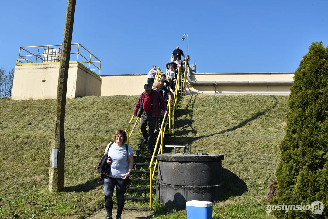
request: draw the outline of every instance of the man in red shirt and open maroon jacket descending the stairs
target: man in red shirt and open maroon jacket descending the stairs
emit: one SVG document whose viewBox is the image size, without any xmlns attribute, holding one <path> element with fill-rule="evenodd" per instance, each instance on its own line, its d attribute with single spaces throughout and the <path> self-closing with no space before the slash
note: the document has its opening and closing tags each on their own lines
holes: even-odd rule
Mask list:
<svg viewBox="0 0 328 219">
<path fill-rule="evenodd" d="M 161 114 L 159 106 L 161 106 L 165 113 L 168 112 L 163 97 L 157 91 L 152 90 L 150 84 L 145 84 L 144 89 L 145 92 L 140 94 L 139 100 L 135 104 L 132 114 L 137 115 L 140 108 L 138 117 L 141 118 L 140 128 L 144 138 L 142 144 L 147 144 L 147 150 L 153 150 L 156 120 Z M 147 132 L 147 122 L 149 126 L 149 134 Z"/>
</svg>

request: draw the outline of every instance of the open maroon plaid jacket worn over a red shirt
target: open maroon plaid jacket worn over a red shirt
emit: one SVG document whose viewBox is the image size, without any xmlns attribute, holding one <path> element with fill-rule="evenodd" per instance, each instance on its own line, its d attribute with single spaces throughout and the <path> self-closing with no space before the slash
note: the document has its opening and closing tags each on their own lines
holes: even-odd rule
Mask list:
<svg viewBox="0 0 328 219">
<path fill-rule="evenodd" d="M 161 105 L 163 111 L 167 111 L 166 109 L 166 104 L 165 101 L 163 99 L 163 97 L 157 92 L 152 90 L 152 111 L 153 111 L 153 117 L 159 117 L 161 115 L 161 110 L 159 109 L 159 105 Z M 133 113 L 135 115 L 137 115 L 137 112 L 140 108 L 138 117 L 141 117 L 142 111 L 143 111 L 143 101 L 145 99 L 145 95 L 146 95 L 146 91 L 142 92 L 142 94 L 140 94 L 139 100 L 138 102 L 135 104 L 134 109 L 133 109 Z"/>
</svg>

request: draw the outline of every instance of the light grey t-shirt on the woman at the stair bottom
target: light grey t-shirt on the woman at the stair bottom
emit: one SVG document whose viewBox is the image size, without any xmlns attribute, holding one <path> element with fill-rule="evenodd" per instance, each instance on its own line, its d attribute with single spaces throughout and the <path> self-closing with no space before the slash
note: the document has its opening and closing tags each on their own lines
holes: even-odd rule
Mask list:
<svg viewBox="0 0 328 219">
<path fill-rule="evenodd" d="M 116 146 L 116 142 L 112 144 L 111 147 L 109 147 L 111 143 L 109 143 L 106 147 L 105 152 L 108 153 L 108 156 L 111 157 L 111 172 L 109 174 L 110 177 L 113 178 L 122 178 L 123 174 L 126 174 L 128 172 L 128 155 L 133 154 L 133 150 L 128 145 L 128 152 L 125 149 L 125 144 L 123 144 L 121 147 Z"/>
</svg>

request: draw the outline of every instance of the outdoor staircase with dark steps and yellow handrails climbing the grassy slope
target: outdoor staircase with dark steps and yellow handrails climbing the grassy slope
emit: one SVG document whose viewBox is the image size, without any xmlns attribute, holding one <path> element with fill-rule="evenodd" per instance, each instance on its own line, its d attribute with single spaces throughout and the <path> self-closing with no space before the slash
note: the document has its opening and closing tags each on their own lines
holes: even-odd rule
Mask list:
<svg viewBox="0 0 328 219">
<path fill-rule="evenodd" d="M 130 184 L 127 186 L 125 191 L 125 199 L 133 200 L 134 202 L 149 202 L 149 208 L 152 208 L 152 196 L 156 193 L 156 178 L 157 178 L 157 153 L 163 153 L 163 141 L 165 130 L 168 133 L 174 133 L 174 112 L 177 107 L 177 96 L 183 95 L 184 87 L 186 82 L 186 69 L 189 67 L 188 61 L 186 62 L 185 72 L 184 74 L 181 72 L 181 69 L 178 69 L 177 73 L 177 81 L 175 84 L 175 94 L 173 100 L 169 100 L 168 102 L 168 114 L 164 114 L 163 121 L 161 123 L 160 130 L 158 131 L 157 138 L 155 136 L 156 143 L 154 144 L 154 151 L 145 150 L 146 145 L 141 144 L 143 142 L 143 138 L 138 138 L 140 143 L 137 143 L 138 149 L 134 149 L 133 156 L 133 170 L 130 176 Z M 157 81 L 160 77 L 161 70 L 158 68 L 155 81 Z M 172 107 L 171 107 L 172 106 Z M 133 130 L 136 127 L 138 119 L 132 123 L 134 115 L 132 116 L 128 127 L 126 129 L 126 133 L 128 135 L 128 141 L 132 136 Z M 172 126 L 171 126 L 172 124 Z M 167 129 L 166 129 L 167 128 Z M 131 130 L 130 130 L 131 129 Z M 148 210 L 149 208 L 136 208 L 125 205 L 126 209 L 139 209 L 139 210 Z"/>
</svg>

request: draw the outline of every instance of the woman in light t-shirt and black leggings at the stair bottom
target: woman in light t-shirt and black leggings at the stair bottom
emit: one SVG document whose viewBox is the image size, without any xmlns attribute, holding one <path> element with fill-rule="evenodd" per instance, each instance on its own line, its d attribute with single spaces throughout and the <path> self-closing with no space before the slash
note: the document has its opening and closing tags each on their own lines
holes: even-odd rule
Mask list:
<svg viewBox="0 0 328 219">
<path fill-rule="evenodd" d="M 107 164 L 111 172 L 104 179 L 106 219 L 112 219 L 113 192 L 116 186 L 117 214 L 121 218 L 124 208 L 124 193 L 133 168 L 133 150 L 125 144 L 128 137 L 124 130 L 118 130 L 114 135 L 114 143 L 109 143 L 104 155 L 108 155 Z"/>
</svg>

